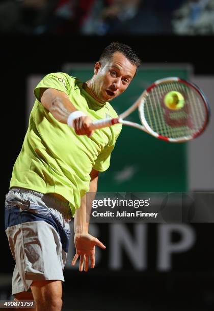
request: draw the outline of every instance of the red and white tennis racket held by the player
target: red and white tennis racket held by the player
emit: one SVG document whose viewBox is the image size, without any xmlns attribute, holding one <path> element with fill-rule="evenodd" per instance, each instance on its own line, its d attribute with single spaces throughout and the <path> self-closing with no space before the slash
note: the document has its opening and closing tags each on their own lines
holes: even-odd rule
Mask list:
<svg viewBox="0 0 214 311">
<path fill-rule="evenodd" d="M 182 108 L 166 105 L 169 92 L 179 92 L 184 100 Z M 124 120 L 135 109 L 139 110 L 142 125 Z M 199 136 L 206 128 L 210 109 L 203 91 L 193 83 L 177 77 L 155 81 L 138 100 L 118 118 L 92 122 L 90 130 L 111 127 L 117 123 L 131 126 L 169 142 L 185 142 Z"/>
</svg>

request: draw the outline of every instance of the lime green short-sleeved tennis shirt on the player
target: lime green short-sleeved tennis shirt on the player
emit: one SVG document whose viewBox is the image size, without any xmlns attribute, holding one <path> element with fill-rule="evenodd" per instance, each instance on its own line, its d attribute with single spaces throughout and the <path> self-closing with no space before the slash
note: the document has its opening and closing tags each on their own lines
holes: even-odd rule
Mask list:
<svg viewBox="0 0 214 311">
<path fill-rule="evenodd" d="M 117 113 L 108 102 L 97 102 L 81 81 L 65 73 L 48 74 L 34 90 L 36 101 L 13 167 L 10 188 L 20 186 L 41 193 L 60 194 L 69 201 L 74 215 L 81 197 L 89 191 L 92 168 L 100 172 L 109 168 L 110 155 L 122 126 L 96 130 L 90 138 L 78 136 L 44 108 L 39 98 L 41 87 L 66 92 L 76 109 L 92 120 L 117 117 Z"/>
</svg>

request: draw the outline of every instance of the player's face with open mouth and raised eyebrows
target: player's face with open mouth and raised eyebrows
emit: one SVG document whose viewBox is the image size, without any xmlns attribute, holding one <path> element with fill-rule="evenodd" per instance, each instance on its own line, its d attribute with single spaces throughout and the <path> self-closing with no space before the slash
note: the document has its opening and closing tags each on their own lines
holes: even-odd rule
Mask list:
<svg viewBox="0 0 214 311">
<path fill-rule="evenodd" d="M 113 54 L 104 66 L 99 62 L 94 67 L 92 89 L 99 102 L 109 102 L 122 94 L 136 73 L 136 66 L 120 52 Z"/>
</svg>

